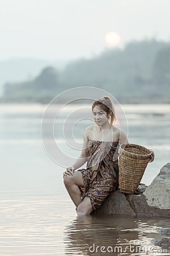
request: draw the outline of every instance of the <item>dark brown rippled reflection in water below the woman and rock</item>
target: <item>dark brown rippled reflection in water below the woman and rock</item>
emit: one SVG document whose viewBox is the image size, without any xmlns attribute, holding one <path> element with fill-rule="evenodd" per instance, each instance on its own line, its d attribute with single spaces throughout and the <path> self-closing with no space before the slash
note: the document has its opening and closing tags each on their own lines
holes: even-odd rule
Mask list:
<svg viewBox="0 0 170 256">
<path fill-rule="evenodd" d="M 162 237 L 159 231 L 169 223 L 167 219 L 118 215 L 77 216 L 65 228 L 65 255 L 159 255 L 154 250 L 161 247 L 152 241 Z"/>
</svg>

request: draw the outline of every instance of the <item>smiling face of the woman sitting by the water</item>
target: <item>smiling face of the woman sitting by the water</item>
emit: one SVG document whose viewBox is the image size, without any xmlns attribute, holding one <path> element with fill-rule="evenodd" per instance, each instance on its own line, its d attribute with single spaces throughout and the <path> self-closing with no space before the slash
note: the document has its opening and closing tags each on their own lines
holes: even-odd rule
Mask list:
<svg viewBox="0 0 170 256">
<path fill-rule="evenodd" d="M 104 123 L 108 122 L 107 112 L 100 106 L 96 105 L 92 110 L 92 114 L 94 115 L 94 120 L 97 125 L 104 125 Z"/>
</svg>

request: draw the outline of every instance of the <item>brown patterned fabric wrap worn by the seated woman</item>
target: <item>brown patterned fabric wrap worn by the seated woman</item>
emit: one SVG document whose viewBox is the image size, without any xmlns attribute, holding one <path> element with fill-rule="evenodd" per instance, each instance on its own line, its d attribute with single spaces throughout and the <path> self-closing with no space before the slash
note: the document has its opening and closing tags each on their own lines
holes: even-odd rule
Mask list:
<svg viewBox="0 0 170 256">
<path fill-rule="evenodd" d="M 89 140 L 87 168 L 82 173 L 84 187 L 79 187 L 82 200 L 90 197 L 93 210 L 103 203 L 111 191 L 118 189 L 118 143 Z M 117 155 L 118 156 L 118 155 Z"/>
</svg>

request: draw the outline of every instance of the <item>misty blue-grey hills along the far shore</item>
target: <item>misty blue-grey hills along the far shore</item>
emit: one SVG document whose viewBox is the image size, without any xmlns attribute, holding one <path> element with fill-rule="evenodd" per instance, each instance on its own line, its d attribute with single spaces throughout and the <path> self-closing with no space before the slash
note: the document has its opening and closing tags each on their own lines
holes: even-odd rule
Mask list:
<svg viewBox="0 0 170 256">
<path fill-rule="evenodd" d="M 169 103 L 169 67 L 170 43 L 130 42 L 124 49 L 71 61 L 63 70 L 46 67 L 35 79 L 7 83 L 2 101 L 48 103 L 66 89 L 94 86 L 122 103 Z"/>
</svg>

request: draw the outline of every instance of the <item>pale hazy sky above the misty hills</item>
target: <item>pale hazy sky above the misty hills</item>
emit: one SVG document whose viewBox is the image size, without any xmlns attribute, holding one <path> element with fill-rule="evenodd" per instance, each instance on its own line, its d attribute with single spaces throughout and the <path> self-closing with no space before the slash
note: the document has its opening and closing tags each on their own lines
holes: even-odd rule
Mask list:
<svg viewBox="0 0 170 256">
<path fill-rule="evenodd" d="M 170 40 L 169 0 L 0 0 L 0 60 L 76 59 L 107 48 L 109 31 Z"/>
</svg>

